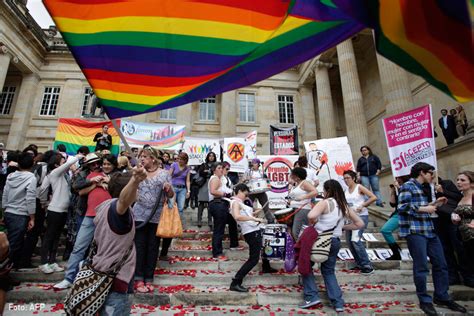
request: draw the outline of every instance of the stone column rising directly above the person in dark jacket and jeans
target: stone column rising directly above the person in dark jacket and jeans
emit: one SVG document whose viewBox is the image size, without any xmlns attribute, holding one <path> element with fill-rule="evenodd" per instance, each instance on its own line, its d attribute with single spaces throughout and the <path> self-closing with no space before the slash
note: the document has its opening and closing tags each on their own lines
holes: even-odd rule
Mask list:
<svg viewBox="0 0 474 316">
<path fill-rule="evenodd" d="M 347 137 L 349 138 L 352 152 L 357 154 L 355 155 L 356 157 L 358 156 L 359 148 L 368 144 L 369 134 L 367 132 L 362 91 L 351 39 L 337 45 L 337 56 L 344 100 Z"/>
</svg>

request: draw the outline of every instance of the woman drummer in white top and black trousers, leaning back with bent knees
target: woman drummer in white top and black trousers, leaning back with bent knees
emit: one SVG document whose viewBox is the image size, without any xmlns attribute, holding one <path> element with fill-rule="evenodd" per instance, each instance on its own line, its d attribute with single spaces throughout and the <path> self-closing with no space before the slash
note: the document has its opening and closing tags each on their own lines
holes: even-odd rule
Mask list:
<svg viewBox="0 0 474 316">
<path fill-rule="evenodd" d="M 262 232 L 260 225 L 262 218 L 256 218 L 254 210 L 245 205 L 244 201 L 248 197 L 249 188 L 243 183 L 239 183 L 234 188 L 235 195 L 230 202 L 230 211 L 234 219 L 240 226 L 245 242 L 249 245 L 249 258 L 237 271 L 230 284 L 230 290 L 236 292 L 248 292 L 248 289 L 242 286 L 244 277 L 258 264 L 262 250 Z M 262 259 L 262 272 L 274 273 L 277 270 L 270 267 L 267 259 Z"/>
</svg>

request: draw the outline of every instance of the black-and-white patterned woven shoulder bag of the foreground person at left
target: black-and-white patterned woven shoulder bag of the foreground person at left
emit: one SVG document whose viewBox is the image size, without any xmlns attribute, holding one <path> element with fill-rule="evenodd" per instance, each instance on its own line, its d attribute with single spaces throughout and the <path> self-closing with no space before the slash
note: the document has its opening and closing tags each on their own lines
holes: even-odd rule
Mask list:
<svg viewBox="0 0 474 316">
<path fill-rule="evenodd" d="M 92 267 L 92 258 L 97 253 L 97 244 L 92 241 L 89 256 L 76 276 L 74 283 L 64 301 L 67 315 L 94 316 L 104 305 L 112 283 L 118 272 L 132 253 L 134 243 L 125 255 L 107 272 L 97 271 Z"/>
</svg>

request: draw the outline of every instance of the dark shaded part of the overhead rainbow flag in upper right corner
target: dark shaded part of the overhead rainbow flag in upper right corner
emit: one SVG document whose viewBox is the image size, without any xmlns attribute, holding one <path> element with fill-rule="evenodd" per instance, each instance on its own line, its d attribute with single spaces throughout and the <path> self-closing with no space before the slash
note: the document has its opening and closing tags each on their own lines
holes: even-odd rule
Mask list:
<svg viewBox="0 0 474 316">
<path fill-rule="evenodd" d="M 459 102 L 474 100 L 474 0 L 332 0 L 377 51 Z"/>
</svg>

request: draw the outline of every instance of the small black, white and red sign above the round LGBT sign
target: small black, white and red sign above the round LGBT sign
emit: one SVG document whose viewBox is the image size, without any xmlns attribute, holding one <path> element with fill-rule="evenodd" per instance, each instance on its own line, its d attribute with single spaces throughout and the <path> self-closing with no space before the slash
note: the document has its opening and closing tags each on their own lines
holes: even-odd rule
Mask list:
<svg viewBox="0 0 474 316">
<path fill-rule="evenodd" d="M 298 155 L 298 127 L 270 125 L 270 155 Z"/>
</svg>

